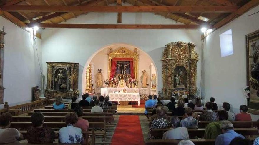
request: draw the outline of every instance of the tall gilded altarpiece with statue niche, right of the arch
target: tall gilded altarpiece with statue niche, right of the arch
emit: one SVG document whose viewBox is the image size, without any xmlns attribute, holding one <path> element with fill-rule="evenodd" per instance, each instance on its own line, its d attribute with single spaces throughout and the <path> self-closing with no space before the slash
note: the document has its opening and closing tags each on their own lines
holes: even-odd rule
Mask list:
<svg viewBox="0 0 259 145">
<path fill-rule="evenodd" d="M 165 45 L 162 61 L 162 93 L 169 99 L 172 92 L 196 95 L 196 74 L 199 56 L 195 44 L 172 42 Z"/>
</svg>

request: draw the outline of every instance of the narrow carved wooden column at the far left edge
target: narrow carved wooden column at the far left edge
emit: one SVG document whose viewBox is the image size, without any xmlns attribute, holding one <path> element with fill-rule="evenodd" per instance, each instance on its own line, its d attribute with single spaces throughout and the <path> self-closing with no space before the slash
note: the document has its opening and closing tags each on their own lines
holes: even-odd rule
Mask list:
<svg viewBox="0 0 259 145">
<path fill-rule="evenodd" d="M 3 72 L 4 72 L 4 35 L 6 33 L 0 31 L 0 104 L 4 104 L 4 86 L 3 86 Z"/>
</svg>

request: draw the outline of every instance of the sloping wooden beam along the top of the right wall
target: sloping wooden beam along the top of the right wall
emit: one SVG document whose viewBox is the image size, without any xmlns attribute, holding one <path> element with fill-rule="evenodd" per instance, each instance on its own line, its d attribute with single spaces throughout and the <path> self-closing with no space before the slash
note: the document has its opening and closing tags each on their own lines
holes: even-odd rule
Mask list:
<svg viewBox="0 0 259 145">
<path fill-rule="evenodd" d="M 238 15 L 242 15 L 243 13 L 245 13 L 246 11 L 248 11 L 249 9 L 258 6 L 259 5 L 259 1 L 258 0 L 251 0 L 249 1 L 247 4 L 243 5 L 242 7 L 240 7 L 237 11 L 235 11 L 234 13 L 231 13 L 229 16 L 227 16 L 226 18 L 224 18 L 223 20 L 221 20 L 220 22 L 216 23 L 215 25 L 213 25 L 213 29 L 218 29 L 220 27 L 222 27 L 223 25 L 226 25 L 227 23 L 229 23 L 230 21 L 233 21 L 235 18 L 238 18 Z"/>
</svg>

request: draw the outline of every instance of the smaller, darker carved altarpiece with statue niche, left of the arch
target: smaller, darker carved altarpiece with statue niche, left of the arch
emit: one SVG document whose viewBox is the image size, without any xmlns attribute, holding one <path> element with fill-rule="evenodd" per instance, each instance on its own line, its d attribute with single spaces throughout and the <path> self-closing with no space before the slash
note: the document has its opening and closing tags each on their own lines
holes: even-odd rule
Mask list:
<svg viewBox="0 0 259 145">
<path fill-rule="evenodd" d="M 45 97 L 73 97 L 75 90 L 78 89 L 78 71 L 79 63 L 47 62 L 47 89 L 45 90 Z M 59 84 L 60 82 L 62 84 Z"/>
</svg>

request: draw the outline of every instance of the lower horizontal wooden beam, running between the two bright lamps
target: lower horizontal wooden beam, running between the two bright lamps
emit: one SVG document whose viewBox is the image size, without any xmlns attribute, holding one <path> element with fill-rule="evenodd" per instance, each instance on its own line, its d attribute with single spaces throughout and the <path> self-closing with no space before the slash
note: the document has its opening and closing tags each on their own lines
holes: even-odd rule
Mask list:
<svg viewBox="0 0 259 145">
<path fill-rule="evenodd" d="M 200 29 L 201 25 L 146 25 L 146 24 L 38 24 L 40 28 L 87 29 Z"/>
</svg>

